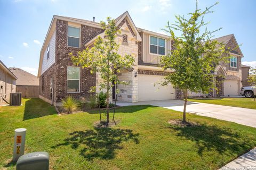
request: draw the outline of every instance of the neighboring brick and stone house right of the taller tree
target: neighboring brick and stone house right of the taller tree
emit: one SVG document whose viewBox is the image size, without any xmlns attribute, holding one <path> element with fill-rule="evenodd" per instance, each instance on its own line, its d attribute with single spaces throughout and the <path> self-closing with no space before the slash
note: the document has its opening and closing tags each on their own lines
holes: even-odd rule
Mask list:
<svg viewBox="0 0 256 170">
<path fill-rule="evenodd" d="M 229 56 L 227 62 L 221 62 L 215 68 L 212 74 L 215 75 L 214 83 L 217 89 L 213 89 L 210 93 L 213 97 L 219 96 L 238 96 L 242 87 L 242 57 L 243 53 L 237 44 L 236 38 L 233 34 L 215 38 L 219 43 L 223 43 L 226 49 L 229 48 Z M 205 95 L 200 92 L 189 92 L 189 96 Z"/>
</svg>

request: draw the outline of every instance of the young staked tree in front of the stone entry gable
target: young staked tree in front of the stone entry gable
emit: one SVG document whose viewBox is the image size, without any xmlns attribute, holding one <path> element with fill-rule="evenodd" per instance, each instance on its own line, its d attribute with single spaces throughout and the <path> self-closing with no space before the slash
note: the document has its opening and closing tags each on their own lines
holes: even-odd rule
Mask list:
<svg viewBox="0 0 256 170">
<path fill-rule="evenodd" d="M 99 73 L 102 81 L 99 82 L 99 90 L 105 90 L 107 94 L 106 100 L 106 124 L 109 123 L 109 97 L 114 84 L 127 84 L 127 82 L 119 81 L 117 73 L 122 69 L 131 69 L 134 63 L 134 57 L 131 55 L 121 56 L 118 54 L 119 44 L 116 43 L 117 33 L 121 33 L 117 29 L 114 19 L 107 18 L 107 24 L 103 21 L 100 25 L 105 30 L 105 35 L 98 37 L 92 48 L 86 48 L 82 52 L 78 52 L 77 56 L 72 56 L 72 60 L 82 67 L 90 67 L 91 73 Z M 94 87 L 95 89 L 95 87 Z"/>
</svg>

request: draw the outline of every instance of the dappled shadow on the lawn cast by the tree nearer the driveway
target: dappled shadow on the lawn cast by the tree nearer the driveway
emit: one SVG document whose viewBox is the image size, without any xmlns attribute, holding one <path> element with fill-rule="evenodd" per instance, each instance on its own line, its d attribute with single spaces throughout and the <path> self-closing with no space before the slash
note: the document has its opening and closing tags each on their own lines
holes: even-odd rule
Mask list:
<svg viewBox="0 0 256 170">
<path fill-rule="evenodd" d="M 217 150 L 219 154 L 229 152 L 229 154 L 240 155 L 256 145 L 256 141 L 246 135 L 217 125 L 202 124 L 185 127 L 171 125 L 170 128 L 177 132 L 178 137 L 194 141 L 200 156 L 204 151 L 211 150 Z"/>
</svg>

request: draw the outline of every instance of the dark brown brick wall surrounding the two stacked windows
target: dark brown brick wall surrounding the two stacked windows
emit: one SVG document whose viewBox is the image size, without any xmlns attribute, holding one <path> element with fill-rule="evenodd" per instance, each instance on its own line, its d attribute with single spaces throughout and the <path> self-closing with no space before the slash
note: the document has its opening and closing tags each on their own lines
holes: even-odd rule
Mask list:
<svg viewBox="0 0 256 170">
<path fill-rule="evenodd" d="M 91 40 L 93 37 L 97 36 L 101 32 L 103 32 L 102 29 L 81 25 L 81 48 L 68 47 L 68 22 L 57 20 L 55 39 L 55 63 L 39 78 L 40 96 L 42 96 L 46 100 L 51 100 L 51 78 L 53 78 L 54 84 L 54 103 L 60 103 L 61 100 L 66 98 L 67 96 L 72 96 L 79 99 L 81 97 L 89 98 L 90 95 L 95 95 L 90 93 L 91 87 L 95 86 L 95 74 L 92 75 L 90 69 L 88 68 L 81 68 L 80 92 L 67 92 L 67 66 L 76 66 L 71 61 L 69 53 L 73 53 L 74 55 L 76 55 L 77 52 L 85 49 L 84 44 L 86 44 L 89 40 Z M 44 83 L 42 81 L 44 81 Z"/>
</svg>

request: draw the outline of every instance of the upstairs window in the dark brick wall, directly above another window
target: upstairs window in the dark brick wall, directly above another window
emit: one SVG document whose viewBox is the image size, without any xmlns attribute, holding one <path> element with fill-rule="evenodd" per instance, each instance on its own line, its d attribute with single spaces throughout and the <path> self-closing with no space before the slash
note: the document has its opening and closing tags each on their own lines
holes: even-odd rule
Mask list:
<svg viewBox="0 0 256 170">
<path fill-rule="evenodd" d="M 68 26 L 68 46 L 80 48 L 80 28 Z"/>
</svg>

